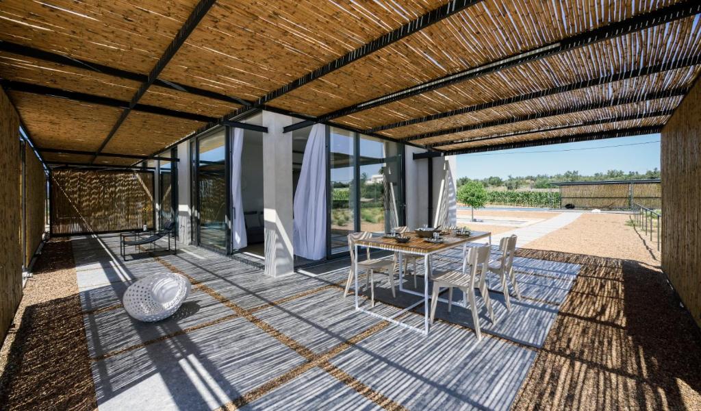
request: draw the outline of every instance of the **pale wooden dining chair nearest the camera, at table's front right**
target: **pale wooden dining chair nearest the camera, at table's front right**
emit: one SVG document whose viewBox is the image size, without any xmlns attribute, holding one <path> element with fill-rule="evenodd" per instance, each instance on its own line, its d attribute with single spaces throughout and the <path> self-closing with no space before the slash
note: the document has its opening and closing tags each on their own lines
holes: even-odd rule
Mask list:
<svg viewBox="0 0 701 411">
<path fill-rule="evenodd" d="M 479 293 L 484 299 L 484 305 L 489 312 L 489 319 L 496 324 L 494 310 L 491 308 L 491 299 L 489 298 L 489 290 L 486 288 L 486 283 L 481 281 L 487 273 L 489 264 L 489 252 L 491 248 L 488 244 L 469 247 L 463 245 L 463 268 L 458 270 L 435 271 L 431 275 L 433 280 L 433 292 L 431 294 L 431 318 L 435 318 L 436 306 L 438 305 L 438 295 L 440 288 L 448 288 L 448 312 L 451 311 L 453 304 L 453 288 L 458 288 L 463 292 L 463 306 L 468 308 L 470 303 L 470 311 L 472 312 L 472 323 L 475 325 L 475 334 L 477 339 L 482 339 L 482 332 L 479 330 L 479 314 L 477 313 L 477 301 L 475 299 L 475 287 L 479 288 Z"/>
</svg>

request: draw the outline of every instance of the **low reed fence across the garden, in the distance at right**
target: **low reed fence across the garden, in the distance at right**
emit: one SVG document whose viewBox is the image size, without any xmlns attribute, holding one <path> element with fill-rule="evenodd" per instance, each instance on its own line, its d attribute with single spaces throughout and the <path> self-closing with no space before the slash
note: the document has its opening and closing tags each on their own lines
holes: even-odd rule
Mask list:
<svg viewBox="0 0 701 411">
<path fill-rule="evenodd" d="M 630 196 L 632 186 L 633 196 Z M 644 184 L 575 184 L 560 187 L 562 206 L 572 204 L 576 208 L 631 208 L 638 203 L 647 208 L 662 208 L 660 183 Z"/>
</svg>

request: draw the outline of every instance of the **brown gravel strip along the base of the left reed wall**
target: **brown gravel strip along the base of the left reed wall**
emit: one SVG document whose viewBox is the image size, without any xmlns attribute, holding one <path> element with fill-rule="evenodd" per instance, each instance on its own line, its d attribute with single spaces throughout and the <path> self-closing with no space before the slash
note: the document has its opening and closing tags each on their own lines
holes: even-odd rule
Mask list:
<svg viewBox="0 0 701 411">
<path fill-rule="evenodd" d="M 94 410 L 70 241 L 43 248 L 14 322 L 0 349 L 0 409 Z"/>
</svg>

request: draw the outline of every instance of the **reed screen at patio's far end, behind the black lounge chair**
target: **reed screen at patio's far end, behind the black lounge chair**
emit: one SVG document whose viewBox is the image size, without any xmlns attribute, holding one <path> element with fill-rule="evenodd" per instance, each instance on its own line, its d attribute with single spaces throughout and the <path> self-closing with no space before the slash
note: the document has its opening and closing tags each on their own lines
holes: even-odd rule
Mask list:
<svg viewBox="0 0 701 411">
<path fill-rule="evenodd" d="M 53 170 L 51 234 L 154 227 L 154 173 Z"/>
</svg>

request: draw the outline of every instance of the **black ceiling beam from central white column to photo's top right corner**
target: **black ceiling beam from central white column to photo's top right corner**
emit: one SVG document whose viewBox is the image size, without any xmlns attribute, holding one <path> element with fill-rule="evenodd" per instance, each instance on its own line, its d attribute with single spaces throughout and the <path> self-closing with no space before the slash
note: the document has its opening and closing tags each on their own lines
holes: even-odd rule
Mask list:
<svg viewBox="0 0 701 411">
<path fill-rule="evenodd" d="M 310 126 L 315 122 L 323 123 L 341 116 L 348 116 L 349 114 L 386 105 L 390 102 L 395 102 L 413 95 L 426 93 L 431 90 L 436 90 L 437 88 L 451 86 L 452 84 L 460 83 L 469 79 L 475 79 L 486 74 L 499 72 L 510 67 L 517 67 L 526 62 L 540 60 L 552 55 L 564 53 L 566 51 L 576 50 L 577 48 L 584 46 L 590 46 L 594 43 L 599 43 L 600 41 L 639 32 L 643 29 L 648 29 L 667 22 L 686 18 L 691 15 L 696 15 L 697 13 L 701 13 L 701 2 L 698 0 L 681 1 L 677 4 L 673 4 L 672 6 L 659 8 L 658 10 L 651 11 L 649 13 L 636 15 L 620 22 L 613 22 L 604 27 L 592 29 L 588 32 L 576 34 L 560 41 L 531 48 L 531 50 L 526 50 L 522 53 L 510 55 L 499 60 L 494 60 L 479 67 L 466 69 L 461 72 L 440 77 L 439 79 L 433 79 L 416 86 L 411 86 L 402 90 L 397 90 L 393 93 L 381 95 L 380 97 L 376 97 L 372 100 L 343 107 L 342 109 L 319 116 L 314 121 L 302 121 L 301 123 L 287 126 L 285 128 L 285 133 L 292 130 L 297 130 L 298 128 Z"/>
</svg>

